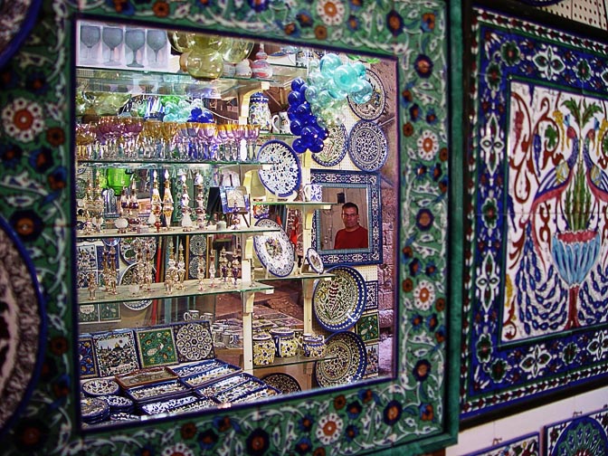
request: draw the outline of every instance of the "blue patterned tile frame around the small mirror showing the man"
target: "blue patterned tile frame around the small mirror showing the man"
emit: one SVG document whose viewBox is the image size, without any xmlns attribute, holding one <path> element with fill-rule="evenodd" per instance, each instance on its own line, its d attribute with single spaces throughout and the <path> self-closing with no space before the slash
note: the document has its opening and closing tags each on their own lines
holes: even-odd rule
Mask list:
<svg viewBox="0 0 608 456">
<path fill-rule="evenodd" d="M 364 173 L 360 171 L 326 171 L 324 169 L 311 169 L 310 182 L 322 187 L 337 188 L 365 188 L 367 230 L 369 232 L 369 247 L 367 249 L 321 249 L 323 235 L 321 233 L 320 209 L 315 211 L 312 221 L 312 245 L 317 250 L 326 267 L 342 264 L 380 264 L 382 263 L 382 192 L 380 191 L 380 175 L 378 173 Z M 334 202 L 331 202 L 334 203 Z M 346 202 L 345 202 L 346 203 Z M 341 204 L 338 204 L 341 205 Z M 359 207 L 359 212 L 362 211 Z"/>
</svg>

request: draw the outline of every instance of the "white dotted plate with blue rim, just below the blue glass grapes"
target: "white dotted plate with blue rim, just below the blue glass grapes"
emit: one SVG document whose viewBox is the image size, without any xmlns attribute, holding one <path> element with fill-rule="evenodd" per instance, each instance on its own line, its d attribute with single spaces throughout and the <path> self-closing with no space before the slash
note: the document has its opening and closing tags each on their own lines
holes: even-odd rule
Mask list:
<svg viewBox="0 0 608 456">
<path fill-rule="evenodd" d="M 264 143 L 258 151 L 258 161 L 270 167 L 260 169 L 261 184 L 272 195 L 285 197 L 298 190 L 302 178 L 298 155 L 283 141 L 275 139 Z"/>
</svg>

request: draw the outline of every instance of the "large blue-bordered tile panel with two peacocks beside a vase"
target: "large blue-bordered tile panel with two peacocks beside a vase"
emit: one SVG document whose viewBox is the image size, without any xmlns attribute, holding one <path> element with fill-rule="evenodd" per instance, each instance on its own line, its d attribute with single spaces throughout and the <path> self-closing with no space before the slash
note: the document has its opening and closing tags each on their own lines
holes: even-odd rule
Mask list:
<svg viewBox="0 0 608 456">
<path fill-rule="evenodd" d="M 608 358 L 608 48 L 479 14 L 463 417 L 606 376 Z"/>
</svg>

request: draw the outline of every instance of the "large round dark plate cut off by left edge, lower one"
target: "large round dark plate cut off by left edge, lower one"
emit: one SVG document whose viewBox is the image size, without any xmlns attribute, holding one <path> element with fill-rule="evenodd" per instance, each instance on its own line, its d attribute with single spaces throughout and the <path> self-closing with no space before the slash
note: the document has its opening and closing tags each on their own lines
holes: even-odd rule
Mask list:
<svg viewBox="0 0 608 456">
<path fill-rule="evenodd" d="M 14 231 L 0 217 L 0 433 L 8 429 L 32 393 L 43 361 L 46 333 L 40 287 L 29 255 Z"/>
</svg>

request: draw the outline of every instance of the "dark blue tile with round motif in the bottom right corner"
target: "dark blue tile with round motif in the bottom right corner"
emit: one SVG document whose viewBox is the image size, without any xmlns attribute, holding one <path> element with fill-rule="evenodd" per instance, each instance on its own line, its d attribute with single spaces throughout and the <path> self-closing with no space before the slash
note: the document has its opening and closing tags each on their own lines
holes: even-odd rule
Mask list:
<svg viewBox="0 0 608 456">
<path fill-rule="evenodd" d="M 546 456 L 608 454 L 608 411 L 545 427 Z"/>
</svg>

